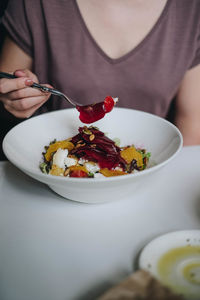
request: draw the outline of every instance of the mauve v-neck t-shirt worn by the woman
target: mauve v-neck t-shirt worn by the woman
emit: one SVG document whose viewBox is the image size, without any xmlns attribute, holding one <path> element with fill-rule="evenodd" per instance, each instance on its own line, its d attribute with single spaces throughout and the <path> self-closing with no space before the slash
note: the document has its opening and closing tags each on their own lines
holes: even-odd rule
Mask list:
<svg viewBox="0 0 200 300">
<path fill-rule="evenodd" d="M 119 59 L 97 45 L 76 0 L 10 0 L 2 22 L 33 58 L 39 81 L 81 103 L 112 95 L 118 106 L 166 117 L 185 72 L 200 63 L 199 0 L 168 0 L 146 37 Z M 37 114 L 66 107 L 54 96 Z"/>
</svg>

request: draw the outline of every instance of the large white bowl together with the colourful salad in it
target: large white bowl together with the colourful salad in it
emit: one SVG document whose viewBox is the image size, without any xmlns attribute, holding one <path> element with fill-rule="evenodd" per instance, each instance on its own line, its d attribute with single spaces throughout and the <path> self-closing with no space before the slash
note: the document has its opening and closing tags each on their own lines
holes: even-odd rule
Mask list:
<svg viewBox="0 0 200 300">
<path fill-rule="evenodd" d="M 15 166 L 73 201 L 135 197 L 154 185 L 154 174 L 182 148 L 179 130 L 146 112 L 115 107 L 112 118 L 106 115 L 91 127 L 84 127 L 78 114 L 74 108 L 33 117 L 12 128 L 3 142 L 4 153 Z"/>
</svg>

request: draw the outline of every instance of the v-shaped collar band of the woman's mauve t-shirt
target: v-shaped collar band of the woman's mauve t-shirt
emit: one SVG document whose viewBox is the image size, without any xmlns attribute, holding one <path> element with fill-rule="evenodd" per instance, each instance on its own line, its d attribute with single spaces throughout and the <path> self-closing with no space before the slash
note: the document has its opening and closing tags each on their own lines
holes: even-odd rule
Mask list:
<svg viewBox="0 0 200 300">
<path fill-rule="evenodd" d="M 128 53 L 122 55 L 119 58 L 111 58 L 110 56 L 108 56 L 103 50 L 102 48 L 97 44 L 96 40 L 94 39 L 94 37 L 92 36 L 92 34 L 90 33 L 85 20 L 81 14 L 81 11 L 79 9 L 78 3 L 76 0 L 72 0 L 72 2 L 74 3 L 74 7 L 75 10 L 77 12 L 78 15 L 78 19 L 83 27 L 83 30 L 85 32 L 85 34 L 88 36 L 88 38 L 90 39 L 90 41 L 92 42 L 93 46 L 96 48 L 96 50 L 100 53 L 100 55 L 107 60 L 110 64 L 117 64 L 120 63 L 126 59 L 128 59 L 130 56 L 134 55 L 135 52 L 137 52 L 148 40 L 149 38 L 153 35 L 154 31 L 157 29 L 157 27 L 159 26 L 159 24 L 162 22 L 164 15 L 167 13 L 168 11 L 168 7 L 170 5 L 172 0 L 167 0 L 159 18 L 157 19 L 157 21 L 155 22 L 155 24 L 153 25 L 153 27 L 150 29 L 150 31 L 146 34 L 146 36 L 132 49 L 130 50 Z"/>
</svg>

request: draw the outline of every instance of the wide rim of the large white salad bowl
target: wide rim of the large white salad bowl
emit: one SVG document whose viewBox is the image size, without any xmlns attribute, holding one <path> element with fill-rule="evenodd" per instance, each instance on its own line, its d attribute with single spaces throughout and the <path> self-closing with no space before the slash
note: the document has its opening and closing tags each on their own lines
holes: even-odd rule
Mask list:
<svg viewBox="0 0 200 300">
<path fill-rule="evenodd" d="M 182 137 L 182 134 L 180 132 L 180 130 L 174 125 L 172 124 L 171 122 L 169 122 L 168 120 L 162 118 L 162 117 L 159 117 L 157 115 L 154 115 L 152 113 L 149 113 L 149 112 L 145 112 L 145 111 L 142 111 L 142 110 L 136 110 L 136 109 L 131 109 L 131 108 L 124 108 L 124 107 L 115 107 L 114 108 L 115 110 L 126 110 L 126 111 L 133 111 L 133 112 L 136 112 L 136 113 L 139 113 L 141 115 L 149 115 L 151 116 L 152 118 L 156 118 L 156 119 L 160 119 L 162 120 L 162 122 L 165 122 L 168 124 L 168 126 L 172 127 L 175 132 L 177 133 L 177 137 L 179 138 L 179 146 L 178 148 L 176 149 L 176 151 L 169 157 L 167 158 L 166 160 L 164 160 L 163 162 L 161 163 L 158 163 L 157 165 L 154 165 L 154 166 L 151 166 L 150 168 L 147 168 L 141 172 L 137 172 L 137 173 L 133 173 L 133 174 L 127 174 L 127 175 L 123 175 L 123 176 L 113 176 L 113 177 L 105 177 L 105 178 L 74 178 L 74 177 L 62 177 L 62 176 L 49 176 L 48 174 L 44 174 L 44 173 L 38 173 L 38 172 L 35 172 L 32 168 L 29 168 L 29 167 L 22 167 L 17 159 L 13 158 L 12 156 L 10 156 L 9 152 L 7 151 L 6 149 L 6 143 L 7 143 L 7 139 L 9 138 L 9 136 L 12 134 L 12 132 L 14 130 L 16 130 L 16 128 L 20 127 L 20 126 L 24 126 L 24 123 L 29 123 L 31 122 L 33 119 L 40 119 L 40 118 L 43 118 L 44 116 L 46 115 L 50 115 L 50 114 L 59 114 L 59 113 L 62 113 L 63 111 L 74 111 L 76 110 L 75 108 L 66 108 L 66 109 L 60 109 L 60 110 L 57 110 L 57 111 L 51 111 L 51 112 L 46 112 L 46 113 L 43 113 L 41 115 L 38 115 L 38 116 L 33 116 L 31 117 L 30 119 L 27 119 L 27 120 L 24 120 L 22 121 L 21 123 L 15 125 L 11 130 L 9 130 L 9 132 L 5 135 L 4 139 L 3 139 L 3 143 L 2 143 L 2 148 L 3 148 L 3 151 L 4 151 L 4 154 L 5 156 L 8 158 L 8 160 L 14 164 L 17 168 L 19 168 L 20 170 L 22 170 L 23 172 L 25 173 L 29 173 L 31 175 L 34 176 L 34 178 L 36 177 L 40 177 L 40 179 L 44 182 L 48 182 L 48 181 L 51 181 L 51 183 L 49 184 L 54 184 L 56 185 L 56 183 L 59 183 L 61 184 L 62 182 L 77 182 L 77 183 L 81 183 L 81 182 L 88 182 L 88 183 L 91 183 L 91 182 L 112 182 L 112 181 L 121 181 L 121 180 L 127 180 L 127 179 L 130 179 L 130 178 L 136 178 L 136 177 L 140 177 L 140 176 L 145 176 L 146 174 L 148 173 L 152 173 L 158 169 L 160 169 L 162 166 L 168 164 L 168 162 L 170 162 L 172 159 L 174 159 L 177 154 L 181 151 L 182 149 L 182 146 L 183 146 L 183 137 Z M 38 162 L 39 164 L 39 162 Z M 38 171 L 39 171 L 39 167 L 38 167 Z M 39 179 L 38 179 L 39 180 Z M 54 181 L 54 183 L 52 183 Z M 48 183 L 47 183 L 48 184 Z"/>
</svg>

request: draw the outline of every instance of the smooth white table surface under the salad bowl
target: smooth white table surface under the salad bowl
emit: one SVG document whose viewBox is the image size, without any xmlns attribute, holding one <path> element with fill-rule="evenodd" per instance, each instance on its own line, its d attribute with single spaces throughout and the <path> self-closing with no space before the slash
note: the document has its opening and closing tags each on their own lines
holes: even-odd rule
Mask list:
<svg viewBox="0 0 200 300">
<path fill-rule="evenodd" d="M 147 242 L 184 229 L 200 229 L 200 146 L 130 197 L 94 205 L 1 162 L 0 299 L 94 300 L 137 268 Z"/>
</svg>

